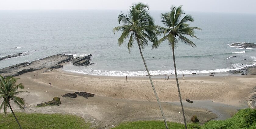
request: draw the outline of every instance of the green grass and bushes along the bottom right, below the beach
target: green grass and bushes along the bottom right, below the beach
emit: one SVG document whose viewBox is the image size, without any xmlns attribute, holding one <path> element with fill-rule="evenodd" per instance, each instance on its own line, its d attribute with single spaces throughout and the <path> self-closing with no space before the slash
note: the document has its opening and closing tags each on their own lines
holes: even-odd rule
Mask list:
<svg viewBox="0 0 256 129">
<path fill-rule="evenodd" d="M 200 120 L 199 120 L 200 121 Z M 184 129 L 184 125 L 167 122 L 169 129 Z M 233 117 L 223 121 L 209 121 L 204 125 L 189 123 L 188 129 L 256 129 L 256 110 L 240 110 Z M 134 121 L 123 122 L 114 129 L 165 129 L 163 121 Z"/>
</svg>

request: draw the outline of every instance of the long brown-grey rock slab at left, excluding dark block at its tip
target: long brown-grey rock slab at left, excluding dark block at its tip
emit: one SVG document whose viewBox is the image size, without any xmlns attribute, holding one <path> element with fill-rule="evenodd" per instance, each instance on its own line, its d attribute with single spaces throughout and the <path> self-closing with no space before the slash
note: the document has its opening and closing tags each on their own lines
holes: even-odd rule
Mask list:
<svg viewBox="0 0 256 129">
<path fill-rule="evenodd" d="M 34 70 L 41 70 L 43 68 L 61 68 L 61 63 L 69 62 L 72 55 L 57 54 L 53 56 L 48 56 L 43 59 L 36 61 L 19 63 L 12 65 L 0 70 L 2 76 L 18 76 L 23 73 L 31 72 Z"/>
</svg>

